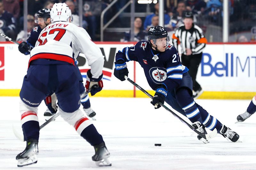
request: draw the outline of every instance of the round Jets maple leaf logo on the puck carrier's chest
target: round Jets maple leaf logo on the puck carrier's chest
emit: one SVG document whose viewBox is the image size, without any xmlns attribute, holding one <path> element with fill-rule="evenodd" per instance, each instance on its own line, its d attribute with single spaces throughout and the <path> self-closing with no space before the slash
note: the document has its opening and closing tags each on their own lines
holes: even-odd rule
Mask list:
<svg viewBox="0 0 256 170">
<path fill-rule="evenodd" d="M 153 67 L 149 70 L 149 75 L 157 84 L 161 84 L 167 78 L 166 69 L 164 68 Z"/>
</svg>

